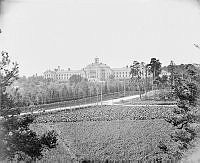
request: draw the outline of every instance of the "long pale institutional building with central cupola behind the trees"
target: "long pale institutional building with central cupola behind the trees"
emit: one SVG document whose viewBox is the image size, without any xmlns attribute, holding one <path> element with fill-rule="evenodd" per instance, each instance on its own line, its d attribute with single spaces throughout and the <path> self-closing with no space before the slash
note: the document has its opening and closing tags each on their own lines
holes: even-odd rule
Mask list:
<svg viewBox="0 0 200 163">
<path fill-rule="evenodd" d="M 144 64 L 141 64 L 141 70 L 144 75 Z M 98 82 L 106 81 L 111 76 L 114 79 L 130 79 L 130 67 L 123 68 L 110 68 L 108 65 L 99 62 L 99 58 L 95 58 L 94 63 L 87 65 L 82 70 L 63 70 L 58 67 L 57 69 L 47 70 L 44 72 L 45 79 L 67 81 L 72 75 L 80 75 L 83 78 L 87 78 L 88 81 Z"/>
</svg>

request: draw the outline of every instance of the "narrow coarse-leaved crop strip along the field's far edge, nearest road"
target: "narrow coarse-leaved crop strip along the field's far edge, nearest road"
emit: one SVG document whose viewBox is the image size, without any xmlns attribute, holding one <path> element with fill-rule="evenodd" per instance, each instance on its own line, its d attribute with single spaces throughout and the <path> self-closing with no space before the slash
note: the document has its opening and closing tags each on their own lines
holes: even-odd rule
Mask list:
<svg viewBox="0 0 200 163">
<path fill-rule="evenodd" d="M 111 120 L 146 120 L 163 119 L 171 116 L 175 106 L 94 106 L 38 115 L 36 123 L 111 121 Z"/>
</svg>

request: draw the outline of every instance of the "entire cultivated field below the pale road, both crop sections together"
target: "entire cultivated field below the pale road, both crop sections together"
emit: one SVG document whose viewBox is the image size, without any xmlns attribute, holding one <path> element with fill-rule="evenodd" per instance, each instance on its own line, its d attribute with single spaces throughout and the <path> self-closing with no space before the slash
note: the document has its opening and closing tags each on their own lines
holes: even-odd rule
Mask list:
<svg viewBox="0 0 200 163">
<path fill-rule="evenodd" d="M 168 106 L 97 106 L 72 112 L 39 115 L 32 126 L 38 133 L 54 129 L 62 143 L 46 155 L 48 161 L 69 159 L 141 160 L 159 152 L 159 141 L 170 143 Z M 63 145 L 64 144 L 64 145 Z M 57 155 L 57 156 L 56 156 Z"/>
</svg>

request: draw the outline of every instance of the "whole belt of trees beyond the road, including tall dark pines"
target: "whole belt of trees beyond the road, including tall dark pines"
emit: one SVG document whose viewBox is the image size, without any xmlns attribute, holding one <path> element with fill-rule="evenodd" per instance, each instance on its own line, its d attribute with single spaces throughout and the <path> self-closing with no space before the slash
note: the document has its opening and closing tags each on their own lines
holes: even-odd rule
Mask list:
<svg viewBox="0 0 200 163">
<path fill-rule="evenodd" d="M 143 69 L 141 69 L 141 65 Z M 185 66 L 192 67 L 192 65 Z M 7 92 L 18 101 L 19 106 L 77 100 L 99 96 L 101 93 L 109 95 L 116 92 L 125 92 L 125 94 L 126 92 L 129 94 L 137 92 L 141 97 L 144 92 L 170 88 L 177 74 L 186 77 L 183 65 L 176 66 L 171 62 L 168 66 L 161 67 L 161 62 L 156 58 L 151 58 L 148 64 L 133 61 L 130 68 L 130 79 L 116 80 L 111 76 L 104 83 L 89 82 L 79 75 L 71 76 L 67 82 L 52 81 L 44 79 L 42 76 L 24 76 L 15 81 L 11 87 L 7 87 Z M 162 69 L 169 72 L 170 75 L 160 76 Z"/>
</svg>

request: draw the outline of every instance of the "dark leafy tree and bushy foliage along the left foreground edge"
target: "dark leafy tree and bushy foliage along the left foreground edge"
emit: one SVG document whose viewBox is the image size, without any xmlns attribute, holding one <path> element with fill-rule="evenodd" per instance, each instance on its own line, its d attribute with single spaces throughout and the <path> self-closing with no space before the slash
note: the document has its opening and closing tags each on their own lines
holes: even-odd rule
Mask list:
<svg viewBox="0 0 200 163">
<path fill-rule="evenodd" d="M 50 131 L 38 137 L 30 130 L 33 115 L 21 116 L 16 109 L 17 101 L 6 92 L 18 77 L 18 64 L 12 63 L 8 53 L 2 52 L 0 60 L 0 160 L 35 161 L 42 158 L 44 148 L 51 149 L 57 145 L 57 134 Z"/>
</svg>

